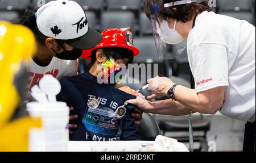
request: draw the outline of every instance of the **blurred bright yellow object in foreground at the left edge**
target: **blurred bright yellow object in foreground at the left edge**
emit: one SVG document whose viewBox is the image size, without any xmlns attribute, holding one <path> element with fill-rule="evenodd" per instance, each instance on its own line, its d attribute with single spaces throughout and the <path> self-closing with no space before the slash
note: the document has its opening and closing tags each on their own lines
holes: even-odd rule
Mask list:
<svg viewBox="0 0 256 163">
<path fill-rule="evenodd" d="M 30 118 L 10 123 L 20 100 L 13 85 L 14 75 L 20 63 L 27 62 L 35 52 L 31 30 L 0 21 L 0 151 L 27 151 L 28 129 L 40 127 L 40 120 Z"/>
</svg>

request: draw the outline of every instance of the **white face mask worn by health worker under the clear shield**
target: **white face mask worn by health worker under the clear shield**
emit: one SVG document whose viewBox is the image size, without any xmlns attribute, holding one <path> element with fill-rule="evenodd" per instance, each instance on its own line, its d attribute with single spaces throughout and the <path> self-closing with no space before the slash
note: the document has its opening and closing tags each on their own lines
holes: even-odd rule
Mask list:
<svg viewBox="0 0 256 163">
<path fill-rule="evenodd" d="M 161 26 L 158 28 L 158 34 L 164 43 L 175 45 L 179 44 L 181 41 L 183 41 L 183 37 L 175 30 L 176 28 L 176 20 L 174 23 L 174 28 L 170 28 L 168 26 L 168 22 L 166 20 L 163 20 L 161 23 Z"/>
</svg>

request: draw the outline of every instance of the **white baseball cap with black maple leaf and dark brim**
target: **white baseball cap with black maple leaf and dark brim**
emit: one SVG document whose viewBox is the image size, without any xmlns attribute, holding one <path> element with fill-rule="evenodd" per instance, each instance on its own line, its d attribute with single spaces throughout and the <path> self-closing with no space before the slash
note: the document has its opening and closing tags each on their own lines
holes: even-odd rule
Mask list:
<svg viewBox="0 0 256 163">
<path fill-rule="evenodd" d="M 36 12 L 36 24 L 47 37 L 64 40 L 77 49 L 90 49 L 100 43 L 102 35 L 88 27 L 84 10 L 75 1 L 57 0 Z"/>
</svg>

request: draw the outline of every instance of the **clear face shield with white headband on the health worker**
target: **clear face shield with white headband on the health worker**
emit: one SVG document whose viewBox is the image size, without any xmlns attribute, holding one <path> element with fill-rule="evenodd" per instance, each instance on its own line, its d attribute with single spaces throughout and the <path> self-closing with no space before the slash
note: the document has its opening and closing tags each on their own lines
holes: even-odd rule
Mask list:
<svg viewBox="0 0 256 163">
<path fill-rule="evenodd" d="M 177 5 L 184 5 L 187 3 L 195 2 L 193 0 L 177 1 L 164 3 L 164 7 L 172 7 Z M 176 30 L 176 20 L 164 19 L 163 15 L 160 13 L 159 7 L 156 4 L 152 5 L 154 9 L 150 16 L 151 26 L 153 30 L 153 35 L 155 38 L 156 49 L 158 51 L 158 56 L 161 59 L 170 59 L 175 56 L 170 53 L 169 49 L 171 45 L 179 44 L 183 41 L 183 37 Z"/>
</svg>

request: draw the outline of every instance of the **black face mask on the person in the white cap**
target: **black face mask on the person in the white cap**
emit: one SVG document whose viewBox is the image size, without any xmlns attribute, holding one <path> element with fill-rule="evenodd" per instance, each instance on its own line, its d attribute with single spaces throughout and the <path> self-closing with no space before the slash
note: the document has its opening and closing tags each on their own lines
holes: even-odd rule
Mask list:
<svg viewBox="0 0 256 163">
<path fill-rule="evenodd" d="M 55 52 L 55 50 L 52 48 L 52 51 Z M 56 57 L 60 60 L 77 60 L 82 56 L 82 50 L 74 48 L 72 51 L 66 51 L 64 50 L 62 53 L 56 53 Z"/>
</svg>

